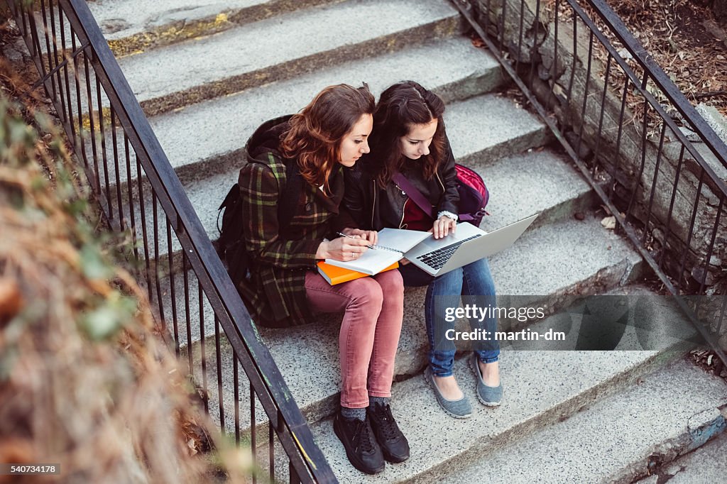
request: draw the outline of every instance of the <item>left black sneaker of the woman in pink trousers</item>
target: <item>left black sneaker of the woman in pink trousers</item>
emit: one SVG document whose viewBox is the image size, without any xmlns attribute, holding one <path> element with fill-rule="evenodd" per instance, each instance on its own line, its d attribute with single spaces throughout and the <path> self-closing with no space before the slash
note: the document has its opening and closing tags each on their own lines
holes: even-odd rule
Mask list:
<svg viewBox="0 0 727 484">
<path fill-rule="evenodd" d="M 371 431 L 369 416 L 366 420 L 345 419 L 339 412 L 333 420 L 333 431 L 341 440 L 353 467 L 366 474 L 384 470 L 384 457 Z"/>
</svg>

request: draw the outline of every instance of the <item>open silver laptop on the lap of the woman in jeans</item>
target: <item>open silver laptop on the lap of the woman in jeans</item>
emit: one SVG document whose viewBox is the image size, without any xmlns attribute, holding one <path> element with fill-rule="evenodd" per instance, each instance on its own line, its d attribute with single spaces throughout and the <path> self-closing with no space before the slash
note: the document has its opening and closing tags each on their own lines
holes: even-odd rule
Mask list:
<svg viewBox="0 0 727 484">
<path fill-rule="evenodd" d="M 427 238 L 406 252 L 404 257 L 431 275 L 446 274 L 457 267 L 507 249 L 538 215 L 531 215 L 492 232 L 485 232 L 470 223 L 462 222 L 457 224 L 454 234 L 437 240 L 433 237 Z"/>
</svg>

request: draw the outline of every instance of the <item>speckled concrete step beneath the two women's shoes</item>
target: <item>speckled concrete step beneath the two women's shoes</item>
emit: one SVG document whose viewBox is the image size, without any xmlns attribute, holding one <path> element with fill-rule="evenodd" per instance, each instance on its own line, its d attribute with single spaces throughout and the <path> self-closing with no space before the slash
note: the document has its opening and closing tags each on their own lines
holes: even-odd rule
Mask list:
<svg viewBox="0 0 727 484">
<path fill-rule="evenodd" d="M 387 465 L 384 472 L 373 477 L 362 475 L 349 464 L 342 444 L 334 435 L 331 419 L 313 424 L 311 430 L 342 483 L 440 482 L 444 476 L 451 475 L 452 469 L 469 461 L 487 459 L 486 453 L 507 443 L 518 441 L 513 446 L 519 447 L 521 436 L 576 414 L 624 382 L 633 382 L 648 371 L 655 357 L 653 352 L 502 352 L 500 370 L 505 389 L 502 406 L 486 408 L 475 400 L 473 416 L 465 420 L 444 415 L 423 378 L 409 379 L 393 388 L 392 408 L 402 432 L 410 436 L 411 457 L 403 464 Z M 473 398 L 475 379 L 467 362 L 457 361 L 454 371 L 461 375 L 463 391 Z M 577 435 L 571 436 L 571 440 Z M 539 454 L 537 449 L 533 451 L 543 460 L 555 457 Z M 595 455 L 598 460 L 602 457 L 600 452 Z M 513 460 L 512 464 L 521 463 Z M 540 465 L 526 471 L 537 472 Z M 490 475 L 497 475 L 497 469 L 493 467 Z M 504 474 L 495 482 L 512 482 L 508 477 Z"/>
</svg>

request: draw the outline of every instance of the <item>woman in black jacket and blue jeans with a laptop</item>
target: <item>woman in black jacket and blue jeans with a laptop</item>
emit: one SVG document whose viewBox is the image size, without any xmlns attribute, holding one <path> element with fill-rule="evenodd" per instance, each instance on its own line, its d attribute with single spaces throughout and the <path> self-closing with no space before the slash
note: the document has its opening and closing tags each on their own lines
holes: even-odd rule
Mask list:
<svg viewBox="0 0 727 484">
<path fill-rule="evenodd" d="M 386 89 L 374 113 L 374 129 L 366 155 L 356 169 L 346 170 L 345 207 L 358 227 L 431 230 L 442 238 L 457 227 L 457 172 L 447 140 L 444 103 L 433 92 L 414 81 L 403 81 Z M 435 208 L 437 218 L 419 209 L 392 180 L 396 173 L 406 177 Z M 405 286 L 427 286 L 425 320 L 430 343 L 425 378 L 447 414 L 466 418 L 472 414 L 467 397 L 454 378 L 454 345 L 441 335 L 454 327 L 435 315 L 435 301 L 459 304 L 461 296 L 494 298 L 495 288 L 486 259 L 460 267 L 436 278 L 414 265 L 400 268 Z M 470 324 L 478 324 L 470 320 Z M 494 331 L 497 320 L 484 321 Z M 499 382 L 499 347 L 491 344 L 475 350 L 470 360 L 477 379 L 478 399 L 486 406 L 502 400 Z"/>
</svg>

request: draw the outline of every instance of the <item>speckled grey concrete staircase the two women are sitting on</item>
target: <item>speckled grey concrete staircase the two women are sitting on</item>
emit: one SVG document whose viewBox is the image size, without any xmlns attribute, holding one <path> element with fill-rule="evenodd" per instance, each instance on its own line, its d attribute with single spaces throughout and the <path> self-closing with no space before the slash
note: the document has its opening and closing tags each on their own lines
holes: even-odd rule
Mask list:
<svg viewBox="0 0 727 484">
<path fill-rule="evenodd" d="M 446 0 L 97 0 L 89 7 L 212 240 L 217 238 L 217 205 L 237 179 L 244 143 L 262 121 L 302 108 L 329 84 L 366 81 L 378 95 L 393 82 L 411 78 L 447 102 L 445 119 L 455 156 L 476 169 L 491 190 L 491 216 L 483 228 L 542 212 L 512 249 L 491 259 L 499 294 L 603 294 L 630 283 L 640 271 L 638 254 L 604 229 L 591 211 L 598 203 L 593 190 L 557 150 L 548 148 L 545 125 L 498 93 L 505 85 L 499 65 L 473 47 Z M 145 207 L 150 206 L 147 201 Z M 585 219 L 574 219 L 576 211 L 585 213 Z M 166 246 L 159 249 L 166 253 Z M 183 297 L 180 289 L 177 295 Z M 192 289 L 189 297 L 196 301 Z M 424 289 L 406 293 L 393 387 L 393 408 L 410 438 L 411 459 L 388 465 L 376 477 L 348 464 L 332 432 L 340 383 L 340 317 L 284 331 L 260 328 L 342 483 L 565 482 L 558 472 L 539 474 L 534 466 L 553 452 L 549 443 L 576 436 L 590 438 L 596 450 L 584 456 L 583 446 L 564 445 L 558 448 L 561 467 L 577 462 L 578 469 L 600 467 L 603 472 L 590 479 L 585 471 L 574 471 L 578 477 L 572 482 L 622 479 L 640 454 L 614 454 L 611 467 L 601 466 L 605 449 L 619 441 L 624 427 L 594 423 L 609 412 L 623 417 L 634 408 L 624 408 L 624 398 L 656 398 L 664 407 L 684 408 L 719 407 L 727 401 L 724 386 L 683 364 L 651 373 L 657 363 L 676 358 L 674 353 L 503 350 L 505 401 L 497 409 L 478 406 L 473 376 L 465 361 L 458 361 L 457 374 L 473 398 L 475 415 L 455 421 L 441 412 L 419 375 L 426 351 L 423 295 Z M 210 315 L 212 308 L 204 312 Z M 181 331 L 180 343 L 183 352 L 198 358 L 202 337 L 196 317 L 191 315 L 190 339 Z M 214 323 L 206 320 L 209 339 Z M 217 362 L 209 355 L 214 341 L 206 346 L 207 378 L 214 382 Z M 222 400 L 230 414 L 233 362 L 224 344 L 222 350 Z M 663 386 L 664 380 L 672 386 Z M 642 381 L 659 392 L 642 391 L 636 384 Z M 209 387 L 213 402 L 217 386 Z M 690 392 L 699 398 L 688 398 Z M 627 397 L 619 397 L 622 393 Z M 243 400 L 240 411 L 246 415 L 249 402 Z M 219 410 L 216 404 L 210 407 L 214 416 Z M 580 412 L 584 410 L 593 417 Z M 256 415 L 259 432 L 264 432 L 264 413 Z M 644 437 L 640 448 L 670 438 L 664 435 Z M 520 471 L 505 465 L 513 465 L 508 462 L 512 449 L 518 452 Z M 266 453 L 261 451 L 261 459 Z M 486 479 L 479 478 L 485 474 Z"/>
</svg>

